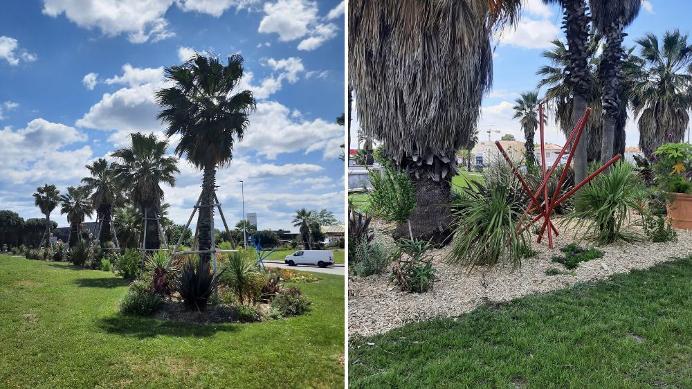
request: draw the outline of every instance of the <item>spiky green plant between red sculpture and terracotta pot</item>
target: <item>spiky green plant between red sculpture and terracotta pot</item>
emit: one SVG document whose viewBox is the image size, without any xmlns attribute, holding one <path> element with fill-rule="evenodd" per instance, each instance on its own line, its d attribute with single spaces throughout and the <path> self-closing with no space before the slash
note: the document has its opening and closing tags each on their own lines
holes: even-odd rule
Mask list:
<svg viewBox="0 0 692 389">
<path fill-rule="evenodd" d="M 574 199 L 574 212 L 563 221 L 574 221 L 576 229 L 598 244 L 632 242 L 637 235 L 624 229 L 632 209 L 645 197 L 644 185 L 630 163 L 620 161 L 583 186 Z"/>
</svg>

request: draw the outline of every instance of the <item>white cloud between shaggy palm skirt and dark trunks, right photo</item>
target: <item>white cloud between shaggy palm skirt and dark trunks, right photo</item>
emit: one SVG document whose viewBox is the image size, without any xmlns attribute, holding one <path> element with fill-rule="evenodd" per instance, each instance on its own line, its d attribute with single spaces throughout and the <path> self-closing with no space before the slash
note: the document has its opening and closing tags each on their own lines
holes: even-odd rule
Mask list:
<svg viewBox="0 0 692 389">
<path fill-rule="evenodd" d="M 516 26 L 508 26 L 500 33 L 500 45 L 522 48 L 549 48 L 550 42 L 560 34 L 560 28 L 547 19 L 523 18 Z"/>
</svg>

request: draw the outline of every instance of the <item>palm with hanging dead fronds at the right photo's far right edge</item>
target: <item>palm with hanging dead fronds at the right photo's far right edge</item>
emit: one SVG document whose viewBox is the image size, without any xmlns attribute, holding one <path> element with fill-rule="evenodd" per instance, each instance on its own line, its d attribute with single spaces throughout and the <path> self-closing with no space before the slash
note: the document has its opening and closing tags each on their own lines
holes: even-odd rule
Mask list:
<svg viewBox="0 0 692 389">
<path fill-rule="evenodd" d="M 687 35 L 666 31 L 662 42 L 653 34 L 637 39 L 641 57 L 628 72 L 630 100 L 639 116 L 639 147 L 656 150 L 668 134 L 682 141 L 692 108 L 692 46 Z"/>
</svg>

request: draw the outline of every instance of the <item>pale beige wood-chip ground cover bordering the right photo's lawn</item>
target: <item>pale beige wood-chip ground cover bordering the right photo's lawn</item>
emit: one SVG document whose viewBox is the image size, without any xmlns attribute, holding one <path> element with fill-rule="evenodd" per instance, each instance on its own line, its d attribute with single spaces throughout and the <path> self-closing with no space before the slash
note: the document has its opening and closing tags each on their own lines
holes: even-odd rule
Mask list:
<svg viewBox="0 0 692 389">
<path fill-rule="evenodd" d="M 547 238 L 541 244 L 533 244 L 538 255 L 525 260 L 517 271 L 512 271 L 511 266 L 495 266 L 493 269 L 481 266 L 469 273 L 463 266 L 444 262 L 449 246 L 434 251 L 433 266 L 438 280 L 435 289 L 428 293 L 405 293 L 394 284 L 388 285 L 389 271 L 365 278 L 349 275 L 349 336 L 370 336 L 406 323 L 435 317 L 455 317 L 485 303 L 562 289 L 577 282 L 602 280 L 616 273 L 628 273 L 632 269 L 648 269 L 692 253 L 692 232 L 677 230 L 677 242 L 600 246 L 605 255 L 581 262 L 574 269 L 576 276 L 545 275 L 550 268 L 567 270 L 563 265 L 552 262 L 552 256 L 562 254 L 559 248 L 574 242 L 576 233 L 574 228 L 556 225 L 559 231 L 564 232 L 554 238 L 554 249 L 548 249 Z M 389 240 L 381 232 L 378 236 L 383 241 Z"/>
</svg>

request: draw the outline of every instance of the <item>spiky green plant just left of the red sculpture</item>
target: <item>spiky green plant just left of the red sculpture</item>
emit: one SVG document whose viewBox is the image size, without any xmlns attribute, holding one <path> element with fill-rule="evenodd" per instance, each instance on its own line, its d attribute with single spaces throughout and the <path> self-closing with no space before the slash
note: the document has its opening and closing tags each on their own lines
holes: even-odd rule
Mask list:
<svg viewBox="0 0 692 389">
<path fill-rule="evenodd" d="M 486 179 L 487 180 L 487 179 Z M 447 260 L 469 266 L 512 264 L 515 269 L 529 246 L 528 229 L 516 231 L 526 205 L 513 178 L 504 185 L 470 181 L 453 204 L 455 234 Z"/>
</svg>

